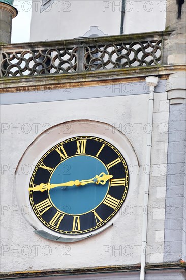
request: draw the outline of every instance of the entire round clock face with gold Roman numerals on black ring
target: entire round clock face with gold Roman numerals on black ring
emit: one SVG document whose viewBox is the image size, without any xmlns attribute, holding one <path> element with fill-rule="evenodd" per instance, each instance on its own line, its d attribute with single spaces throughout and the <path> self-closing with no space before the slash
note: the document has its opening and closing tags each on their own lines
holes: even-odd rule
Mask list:
<svg viewBox="0 0 186 280">
<path fill-rule="evenodd" d="M 118 212 L 128 186 L 128 167 L 117 148 L 98 137 L 78 136 L 58 143 L 39 160 L 29 199 L 46 227 L 81 235 Z"/>
</svg>

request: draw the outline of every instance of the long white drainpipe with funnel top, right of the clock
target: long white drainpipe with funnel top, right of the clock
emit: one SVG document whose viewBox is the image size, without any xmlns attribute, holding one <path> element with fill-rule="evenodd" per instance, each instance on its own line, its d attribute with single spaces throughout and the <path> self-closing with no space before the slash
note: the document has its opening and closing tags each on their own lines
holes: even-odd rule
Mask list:
<svg viewBox="0 0 186 280">
<path fill-rule="evenodd" d="M 144 186 L 143 209 L 147 206 L 147 213 L 143 211 L 143 226 L 142 226 L 142 250 L 141 250 L 141 271 L 140 280 L 145 279 L 145 263 L 146 263 L 146 243 L 147 243 L 147 225 L 148 225 L 148 197 L 150 186 L 150 163 L 151 163 L 151 147 L 152 147 L 152 128 L 153 128 L 153 103 L 154 89 L 158 84 L 159 78 L 149 76 L 146 77 L 147 86 L 149 86 L 149 107 L 148 107 L 148 124 L 151 125 L 151 133 L 147 134 L 146 147 L 146 173 Z"/>
</svg>

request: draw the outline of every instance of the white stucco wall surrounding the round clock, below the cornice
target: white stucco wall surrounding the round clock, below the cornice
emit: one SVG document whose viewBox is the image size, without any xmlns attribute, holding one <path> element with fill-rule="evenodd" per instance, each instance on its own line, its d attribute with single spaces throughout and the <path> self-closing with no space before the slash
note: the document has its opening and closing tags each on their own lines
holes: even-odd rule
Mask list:
<svg viewBox="0 0 186 280">
<path fill-rule="evenodd" d="M 68 269 L 139 263 L 147 136 L 145 131 L 148 129 L 146 125 L 148 94 L 4 105 L 1 107 L 1 114 L 1 121 L 4 124 L 4 129 L 1 131 L 2 271 Z M 163 169 L 162 175 L 157 165 L 166 164 L 168 115 L 167 95 L 157 93 L 154 103 L 152 146 L 154 169 L 150 186 L 152 214 L 149 218 L 147 243 L 151 246 L 153 254 L 149 253 L 149 262 L 163 261 L 163 254 L 159 248 L 160 246 L 163 248 L 164 240 L 166 176 L 165 170 Z M 136 182 L 130 185 L 124 208 L 114 221 L 114 225 L 86 240 L 66 244 L 46 240 L 33 232 L 32 226 L 22 215 L 22 213 L 25 214 L 26 209 L 19 209 L 17 203 L 14 172 L 26 148 L 43 130 L 49 126 L 77 119 L 97 120 L 121 130 L 131 142 L 140 168 L 129 166 L 131 176 L 132 173 L 137 175 Z M 38 129 L 36 129 L 36 124 L 38 124 Z M 27 133 L 28 127 L 29 133 Z M 25 168 L 20 172 L 29 171 Z M 160 188 L 161 192 L 159 192 Z M 162 212 L 160 212 L 160 207 L 162 207 Z"/>
</svg>

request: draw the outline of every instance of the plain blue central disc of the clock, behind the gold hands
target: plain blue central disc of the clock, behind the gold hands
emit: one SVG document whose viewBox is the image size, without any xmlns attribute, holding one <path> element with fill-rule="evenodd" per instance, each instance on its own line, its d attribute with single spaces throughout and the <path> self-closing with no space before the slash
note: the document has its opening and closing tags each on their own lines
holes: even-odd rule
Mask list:
<svg viewBox="0 0 186 280">
<path fill-rule="evenodd" d="M 51 175 L 51 184 L 61 184 L 75 180 L 89 180 L 104 172 L 105 165 L 97 158 L 77 155 L 61 162 Z M 101 185 L 88 183 L 84 186 L 56 187 L 49 191 L 50 199 L 55 207 L 65 213 L 78 215 L 97 207 L 108 192 L 109 180 Z"/>
</svg>

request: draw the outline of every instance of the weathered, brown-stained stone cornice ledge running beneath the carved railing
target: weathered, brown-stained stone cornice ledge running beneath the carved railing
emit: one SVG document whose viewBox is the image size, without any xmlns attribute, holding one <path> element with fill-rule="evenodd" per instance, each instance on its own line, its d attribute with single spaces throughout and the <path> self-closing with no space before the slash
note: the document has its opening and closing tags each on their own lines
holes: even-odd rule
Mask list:
<svg viewBox="0 0 186 280">
<path fill-rule="evenodd" d="M 63 89 L 144 81 L 146 76 L 156 75 L 168 79 L 170 74 L 184 71 L 184 65 L 148 66 L 91 71 L 73 74 L 3 77 L 0 93 Z"/>
</svg>

